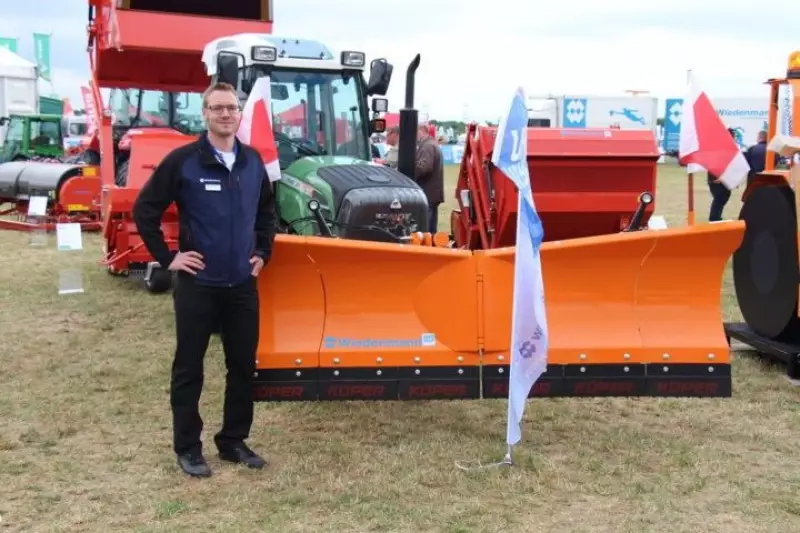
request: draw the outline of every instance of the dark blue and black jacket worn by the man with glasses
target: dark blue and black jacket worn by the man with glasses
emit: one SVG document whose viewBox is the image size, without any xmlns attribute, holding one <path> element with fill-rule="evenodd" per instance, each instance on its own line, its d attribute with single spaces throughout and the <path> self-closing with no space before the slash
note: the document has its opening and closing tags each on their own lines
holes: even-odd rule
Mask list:
<svg viewBox="0 0 800 533">
<path fill-rule="evenodd" d="M 175 202 L 180 217 L 179 250 L 196 251 L 205 268 L 195 280 L 230 287 L 249 279 L 250 258 L 266 264 L 277 232 L 275 197 L 264 162 L 250 146 L 235 141 L 231 171 L 218 159 L 207 134 L 176 148 L 161 161 L 133 207 L 139 235 L 150 254 L 167 268 L 175 254 L 161 231 L 161 218 Z"/>
</svg>

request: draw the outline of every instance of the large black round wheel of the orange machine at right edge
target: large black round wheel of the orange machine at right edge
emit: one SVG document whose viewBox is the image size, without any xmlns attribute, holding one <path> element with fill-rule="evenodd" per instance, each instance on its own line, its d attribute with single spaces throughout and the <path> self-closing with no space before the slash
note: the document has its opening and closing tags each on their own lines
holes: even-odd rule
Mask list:
<svg viewBox="0 0 800 533">
<path fill-rule="evenodd" d="M 759 335 L 797 342 L 800 267 L 794 192 L 785 185 L 754 189 L 739 220 L 746 228 L 733 254 L 733 278 L 742 317 Z"/>
</svg>

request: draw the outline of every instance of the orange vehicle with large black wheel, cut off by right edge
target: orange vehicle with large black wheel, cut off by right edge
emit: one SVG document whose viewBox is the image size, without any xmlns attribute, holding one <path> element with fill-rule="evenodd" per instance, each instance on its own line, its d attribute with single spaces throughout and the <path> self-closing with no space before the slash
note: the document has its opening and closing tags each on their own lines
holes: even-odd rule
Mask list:
<svg viewBox="0 0 800 533">
<path fill-rule="evenodd" d="M 800 379 L 800 313 L 798 312 L 798 213 L 796 194 L 800 165 L 787 149 L 776 154 L 780 144 L 778 99 L 788 87 L 791 99 L 790 134 L 800 136 L 800 50 L 789 57 L 786 76 L 770 79 L 767 122 L 767 152 L 764 172 L 749 180 L 739 219 L 747 225 L 741 247 L 733 255 L 736 297 L 743 323 L 725 324 L 729 338 L 738 339 L 765 355 L 787 363 L 787 372 Z M 795 141 L 798 139 L 795 138 Z M 789 156 L 787 169 L 776 168 L 775 155 Z"/>
</svg>

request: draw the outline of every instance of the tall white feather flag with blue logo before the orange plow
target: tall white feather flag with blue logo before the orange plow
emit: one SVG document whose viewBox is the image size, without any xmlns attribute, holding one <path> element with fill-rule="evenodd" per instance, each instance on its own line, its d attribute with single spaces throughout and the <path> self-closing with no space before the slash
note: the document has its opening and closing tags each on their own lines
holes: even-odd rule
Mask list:
<svg viewBox="0 0 800 533">
<path fill-rule="evenodd" d="M 539 250 L 544 231 L 533 202 L 528 174 L 528 111 L 525 93 L 517 89 L 497 128 L 492 163 L 519 189 L 514 303 L 511 317 L 511 371 L 508 379 L 509 446 L 522 438 L 525 403 L 536 380 L 547 369 L 547 314 Z"/>
</svg>

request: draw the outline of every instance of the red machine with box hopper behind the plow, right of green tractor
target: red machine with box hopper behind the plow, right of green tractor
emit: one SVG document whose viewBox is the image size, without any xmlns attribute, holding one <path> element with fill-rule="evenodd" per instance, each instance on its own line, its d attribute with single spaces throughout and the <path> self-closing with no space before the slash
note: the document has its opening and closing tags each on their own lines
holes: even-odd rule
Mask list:
<svg viewBox="0 0 800 533">
<path fill-rule="evenodd" d="M 513 246 L 517 190 L 491 164 L 497 128 L 470 124 L 451 213 L 455 245 Z M 653 132 L 528 128 L 528 169 L 546 241 L 646 227 L 655 208 Z"/>
</svg>

